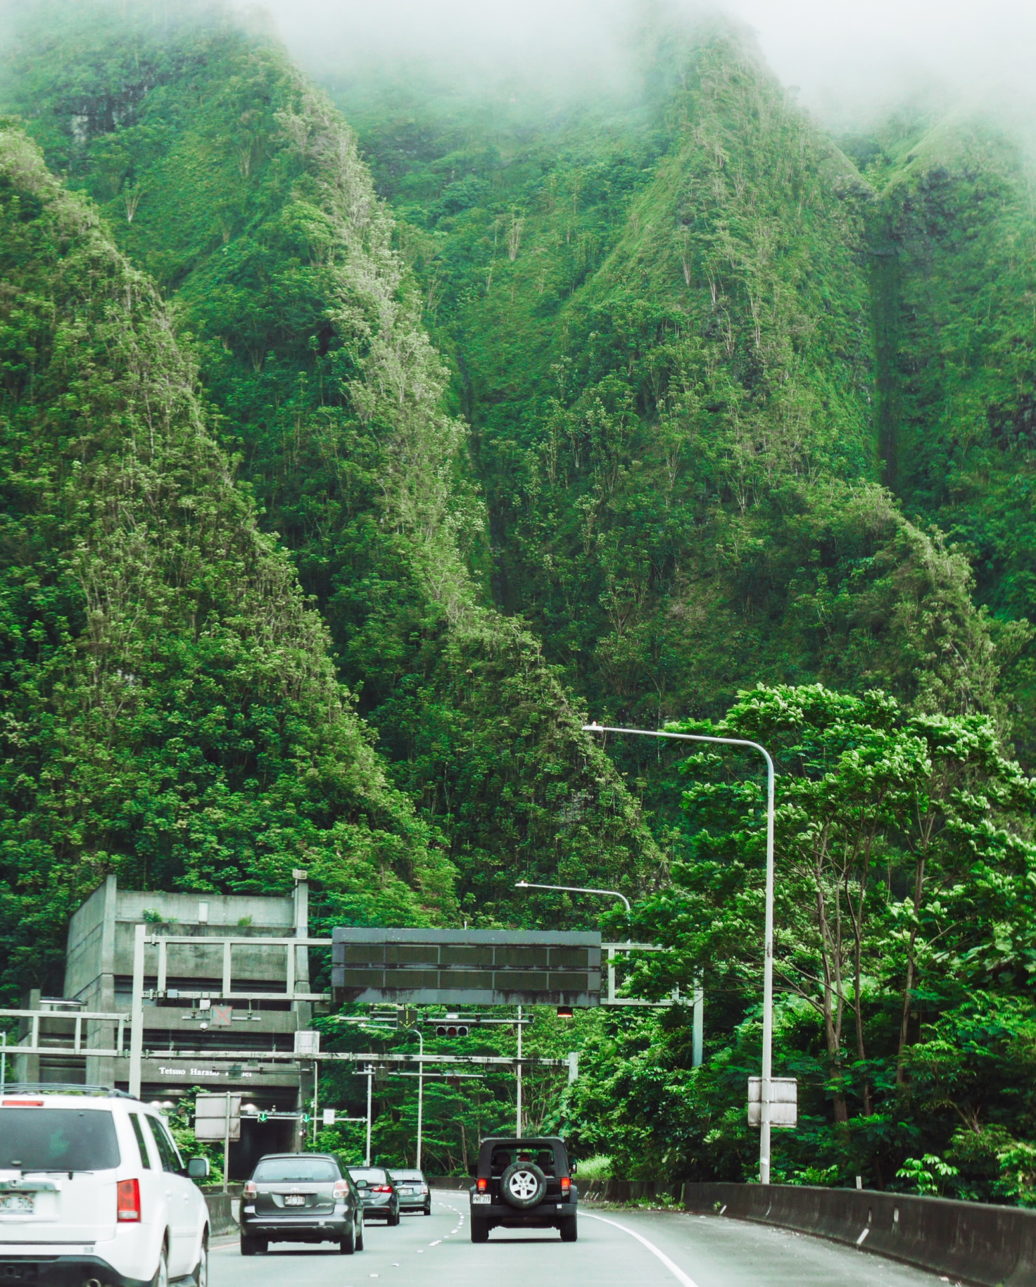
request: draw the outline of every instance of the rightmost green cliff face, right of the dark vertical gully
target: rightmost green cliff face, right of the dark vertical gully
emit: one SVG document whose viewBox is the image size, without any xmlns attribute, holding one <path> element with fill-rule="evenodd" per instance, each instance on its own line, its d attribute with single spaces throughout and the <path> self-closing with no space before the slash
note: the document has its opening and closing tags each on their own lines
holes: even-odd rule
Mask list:
<svg viewBox="0 0 1036 1287">
<path fill-rule="evenodd" d="M 885 479 L 968 557 L 1000 640 L 1019 746 L 1033 745 L 1036 216 L 1032 165 L 981 117 L 856 140 L 878 196 L 873 295 Z"/>
</svg>

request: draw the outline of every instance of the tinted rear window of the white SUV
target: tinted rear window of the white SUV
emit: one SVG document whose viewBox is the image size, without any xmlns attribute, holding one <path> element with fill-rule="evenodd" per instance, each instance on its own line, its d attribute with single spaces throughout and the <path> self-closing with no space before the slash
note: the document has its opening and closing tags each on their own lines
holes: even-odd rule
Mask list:
<svg viewBox="0 0 1036 1287">
<path fill-rule="evenodd" d="M 109 1171 L 118 1139 L 100 1108 L 0 1108 L 0 1170 Z"/>
</svg>

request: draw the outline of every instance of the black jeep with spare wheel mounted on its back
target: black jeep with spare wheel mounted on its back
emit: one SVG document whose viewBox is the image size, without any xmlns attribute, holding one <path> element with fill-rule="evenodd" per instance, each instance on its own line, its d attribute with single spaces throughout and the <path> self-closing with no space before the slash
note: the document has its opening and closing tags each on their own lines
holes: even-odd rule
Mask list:
<svg viewBox="0 0 1036 1287">
<path fill-rule="evenodd" d="M 556 1135 L 484 1139 L 471 1167 L 471 1241 L 485 1242 L 501 1225 L 560 1229 L 562 1242 L 575 1242 L 574 1171 L 565 1142 Z"/>
</svg>

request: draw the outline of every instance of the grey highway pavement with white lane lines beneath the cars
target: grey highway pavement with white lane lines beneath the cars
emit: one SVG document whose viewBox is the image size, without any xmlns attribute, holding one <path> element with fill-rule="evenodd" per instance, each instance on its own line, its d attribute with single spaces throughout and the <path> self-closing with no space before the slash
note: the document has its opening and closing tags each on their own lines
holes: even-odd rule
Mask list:
<svg viewBox="0 0 1036 1287">
<path fill-rule="evenodd" d="M 937 1274 L 781 1229 L 667 1211 L 583 1207 L 579 1241 L 494 1229 L 472 1245 L 467 1194 L 436 1190 L 431 1216 L 367 1227 L 354 1256 L 274 1243 L 212 1250 L 210 1287 L 936 1287 Z"/>
</svg>

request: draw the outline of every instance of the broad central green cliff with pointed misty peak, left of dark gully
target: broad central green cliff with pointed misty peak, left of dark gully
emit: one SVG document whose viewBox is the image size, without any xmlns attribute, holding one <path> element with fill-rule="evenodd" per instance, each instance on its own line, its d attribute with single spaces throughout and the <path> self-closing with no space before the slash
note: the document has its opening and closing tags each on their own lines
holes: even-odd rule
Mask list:
<svg viewBox="0 0 1036 1287">
<path fill-rule="evenodd" d="M 454 358 L 498 601 L 616 719 L 762 677 L 988 704 L 968 565 L 878 483 L 874 189 L 741 33 L 652 39 L 638 100 L 556 117 L 338 89 Z"/>
</svg>

